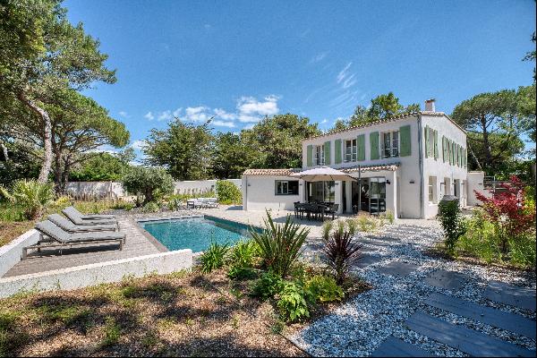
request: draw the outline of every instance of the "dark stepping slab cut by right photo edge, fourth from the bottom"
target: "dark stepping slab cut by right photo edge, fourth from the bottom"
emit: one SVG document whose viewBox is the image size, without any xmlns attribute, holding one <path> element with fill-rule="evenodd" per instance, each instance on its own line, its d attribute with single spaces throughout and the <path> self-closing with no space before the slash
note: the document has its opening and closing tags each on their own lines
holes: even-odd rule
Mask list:
<svg viewBox="0 0 537 358">
<path fill-rule="evenodd" d="M 484 298 L 498 303 L 505 303 L 524 310 L 535 311 L 535 290 L 526 287 L 490 281 L 483 293 Z"/>
</svg>

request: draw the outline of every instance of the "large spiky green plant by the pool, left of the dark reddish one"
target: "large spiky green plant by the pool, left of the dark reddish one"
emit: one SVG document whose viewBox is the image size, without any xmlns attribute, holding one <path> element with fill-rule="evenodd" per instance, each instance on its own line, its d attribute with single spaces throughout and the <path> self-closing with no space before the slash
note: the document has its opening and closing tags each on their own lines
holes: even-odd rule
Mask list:
<svg viewBox="0 0 537 358">
<path fill-rule="evenodd" d="M 286 224 L 274 224 L 268 211 L 264 223 L 265 229 L 261 233 L 250 229 L 251 238 L 259 246 L 263 266 L 272 269 L 281 277 L 286 277 L 298 259 L 310 230 L 295 224 L 289 215 L 286 217 Z"/>
</svg>

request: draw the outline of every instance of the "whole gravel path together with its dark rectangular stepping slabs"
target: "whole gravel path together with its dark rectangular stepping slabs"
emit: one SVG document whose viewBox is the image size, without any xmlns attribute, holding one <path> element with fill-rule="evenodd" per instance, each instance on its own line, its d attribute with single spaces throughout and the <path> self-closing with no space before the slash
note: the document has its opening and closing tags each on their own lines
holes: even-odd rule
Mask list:
<svg viewBox="0 0 537 358">
<path fill-rule="evenodd" d="M 407 225 L 359 235 L 355 273 L 373 288 L 292 339 L 314 356 L 535 356 L 534 274 L 424 254 L 440 237 Z"/>
</svg>

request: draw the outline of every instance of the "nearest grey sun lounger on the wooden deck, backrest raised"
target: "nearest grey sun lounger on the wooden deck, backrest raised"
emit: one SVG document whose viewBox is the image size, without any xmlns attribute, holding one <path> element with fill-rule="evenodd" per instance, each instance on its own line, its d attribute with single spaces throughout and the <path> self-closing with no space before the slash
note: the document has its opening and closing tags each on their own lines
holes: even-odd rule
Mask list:
<svg viewBox="0 0 537 358">
<path fill-rule="evenodd" d="M 119 250 L 123 250 L 123 245 L 125 243 L 125 234 L 114 231 L 70 234 L 48 220 L 37 223 L 35 228 L 40 234 L 40 239 L 35 245 L 22 248 L 22 260 L 25 260 L 28 257 L 29 250 L 40 251 L 41 249 L 57 248 L 61 255 L 65 247 L 88 243 L 119 243 Z"/>
</svg>

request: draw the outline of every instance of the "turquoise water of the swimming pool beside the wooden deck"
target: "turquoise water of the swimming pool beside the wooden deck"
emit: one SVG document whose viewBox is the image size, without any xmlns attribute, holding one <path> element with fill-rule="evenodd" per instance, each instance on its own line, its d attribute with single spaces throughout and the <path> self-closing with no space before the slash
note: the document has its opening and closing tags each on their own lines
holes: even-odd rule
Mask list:
<svg viewBox="0 0 537 358">
<path fill-rule="evenodd" d="M 192 249 L 205 251 L 211 242 L 233 245 L 249 237 L 248 227 L 218 217 L 183 217 L 169 220 L 139 222 L 169 251 Z M 260 228 L 254 227 L 260 231 Z"/>
</svg>

